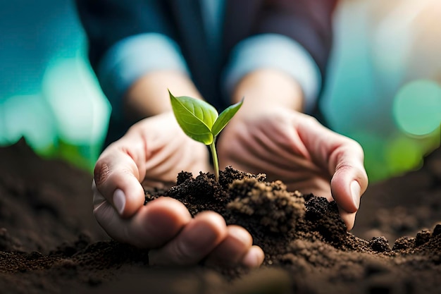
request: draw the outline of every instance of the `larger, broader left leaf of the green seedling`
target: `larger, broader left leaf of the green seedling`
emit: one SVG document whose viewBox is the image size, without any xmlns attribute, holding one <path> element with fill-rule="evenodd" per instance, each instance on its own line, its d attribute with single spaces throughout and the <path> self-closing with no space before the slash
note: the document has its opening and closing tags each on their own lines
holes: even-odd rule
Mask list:
<svg viewBox="0 0 441 294">
<path fill-rule="evenodd" d="M 218 118 L 218 111 L 210 104 L 192 97 L 174 97 L 170 101 L 176 120 L 184 133 L 193 140 L 210 145 L 214 137 L 211 127 Z"/>
</svg>

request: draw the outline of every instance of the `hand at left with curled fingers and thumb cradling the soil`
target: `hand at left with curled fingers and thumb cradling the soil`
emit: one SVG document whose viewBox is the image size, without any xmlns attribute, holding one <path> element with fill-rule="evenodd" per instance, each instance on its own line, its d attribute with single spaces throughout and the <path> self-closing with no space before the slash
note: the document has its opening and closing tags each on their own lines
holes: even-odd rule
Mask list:
<svg viewBox="0 0 441 294">
<path fill-rule="evenodd" d="M 150 264 L 217 264 L 258 267 L 263 251 L 240 226 L 216 212 L 194 218 L 170 197 L 144 205 L 140 182 L 175 183 L 178 172 L 209 171 L 208 150 L 182 132 L 171 112 L 145 118 L 109 145 L 94 170 L 94 216 L 115 240 L 149 249 Z"/>
</svg>

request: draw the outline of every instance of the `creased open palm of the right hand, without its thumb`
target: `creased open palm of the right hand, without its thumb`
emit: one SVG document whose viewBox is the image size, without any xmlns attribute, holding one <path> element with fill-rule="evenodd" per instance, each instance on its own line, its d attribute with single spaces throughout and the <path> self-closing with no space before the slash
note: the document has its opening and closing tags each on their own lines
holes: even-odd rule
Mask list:
<svg viewBox="0 0 441 294">
<path fill-rule="evenodd" d="M 292 113 L 232 121 L 219 139 L 221 166 L 266 173 L 288 189 L 331 197 L 332 175 L 316 161 L 301 137 Z"/>
</svg>

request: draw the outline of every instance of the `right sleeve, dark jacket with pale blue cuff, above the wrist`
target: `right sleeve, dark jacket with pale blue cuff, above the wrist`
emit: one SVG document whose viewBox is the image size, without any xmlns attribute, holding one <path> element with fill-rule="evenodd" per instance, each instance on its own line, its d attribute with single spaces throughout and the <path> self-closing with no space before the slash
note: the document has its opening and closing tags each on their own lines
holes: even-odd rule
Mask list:
<svg viewBox="0 0 441 294">
<path fill-rule="evenodd" d="M 304 91 L 306 112 L 316 111 L 332 44 L 336 0 L 230 1 L 225 22 L 226 51 L 223 91 L 259 67 L 278 68 L 295 78 Z M 255 3 L 255 2 L 254 2 Z M 242 22 L 237 29 L 237 22 Z"/>
</svg>

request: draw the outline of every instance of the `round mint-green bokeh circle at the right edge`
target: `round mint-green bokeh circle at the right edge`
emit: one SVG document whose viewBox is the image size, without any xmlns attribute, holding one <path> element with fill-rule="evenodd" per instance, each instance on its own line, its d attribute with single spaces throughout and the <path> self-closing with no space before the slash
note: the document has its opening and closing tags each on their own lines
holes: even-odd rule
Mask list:
<svg viewBox="0 0 441 294">
<path fill-rule="evenodd" d="M 405 133 L 433 133 L 441 124 L 441 87 L 430 80 L 409 82 L 397 93 L 392 111 Z"/>
</svg>

